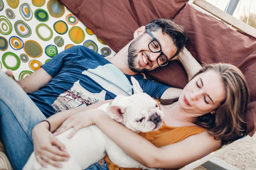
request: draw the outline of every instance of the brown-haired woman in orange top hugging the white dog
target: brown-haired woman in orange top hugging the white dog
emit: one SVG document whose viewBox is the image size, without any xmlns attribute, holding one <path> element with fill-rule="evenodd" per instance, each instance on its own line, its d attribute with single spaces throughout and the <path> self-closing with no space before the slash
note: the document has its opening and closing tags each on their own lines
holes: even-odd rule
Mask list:
<svg viewBox="0 0 256 170">
<path fill-rule="evenodd" d="M 144 166 L 177 169 L 244 136 L 248 98 L 245 77 L 237 67 L 209 64 L 188 82 L 179 98 L 161 101 L 164 125 L 160 130 L 138 135 L 98 109 L 81 111 L 69 118 L 67 111 L 66 116 L 55 114 L 48 121 L 55 135 L 73 127 L 70 137 L 80 128 L 96 124 L 124 152 Z M 47 128 L 48 123 L 39 123 L 33 129 L 38 162 L 43 166 L 46 162 L 61 166 L 55 161 L 66 160 L 68 154 L 63 152 L 65 147 L 60 142 L 52 138 L 52 144 L 60 150 L 38 147 L 43 142 L 43 137 L 38 134 L 46 132 Z M 109 169 L 117 168 L 110 160 L 105 160 Z"/>
</svg>

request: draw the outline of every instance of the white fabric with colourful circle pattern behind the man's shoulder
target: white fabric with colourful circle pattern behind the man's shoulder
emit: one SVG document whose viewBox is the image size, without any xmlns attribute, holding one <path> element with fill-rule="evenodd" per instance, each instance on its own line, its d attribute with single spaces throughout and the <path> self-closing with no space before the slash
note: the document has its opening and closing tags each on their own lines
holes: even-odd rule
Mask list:
<svg viewBox="0 0 256 170">
<path fill-rule="evenodd" d="M 113 55 L 66 9 L 58 0 L 0 0 L 0 69 L 23 79 L 74 45 Z"/>
</svg>

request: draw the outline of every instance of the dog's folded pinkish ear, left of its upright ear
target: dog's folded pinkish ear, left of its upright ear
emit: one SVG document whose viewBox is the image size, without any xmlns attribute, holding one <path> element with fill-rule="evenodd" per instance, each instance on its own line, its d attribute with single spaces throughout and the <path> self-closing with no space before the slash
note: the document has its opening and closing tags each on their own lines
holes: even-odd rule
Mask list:
<svg viewBox="0 0 256 170">
<path fill-rule="evenodd" d="M 110 111 L 110 118 L 116 120 L 119 123 L 124 122 L 124 111 L 126 107 L 125 106 L 117 106 L 117 105 L 111 105 L 109 106 L 109 111 Z"/>
</svg>

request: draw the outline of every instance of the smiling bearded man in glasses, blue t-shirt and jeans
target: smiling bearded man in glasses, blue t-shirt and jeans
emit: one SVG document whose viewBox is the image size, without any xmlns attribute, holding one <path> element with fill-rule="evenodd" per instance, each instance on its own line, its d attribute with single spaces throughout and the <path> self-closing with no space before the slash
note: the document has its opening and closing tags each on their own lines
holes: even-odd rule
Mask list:
<svg viewBox="0 0 256 170">
<path fill-rule="evenodd" d="M 135 30 L 134 39 L 114 57 L 104 58 L 83 46 L 70 47 L 17 81 L 23 90 L 1 73 L 1 141 L 14 169 L 22 169 L 33 152 L 31 131 L 37 123 L 60 111 L 89 106 L 118 94 L 131 95 L 131 76 L 154 98 L 178 96 L 178 90 L 169 94 L 168 86 L 137 73 L 168 64 L 185 45 L 185 34 L 174 21 L 160 18 Z M 179 60 L 186 67 L 187 62 L 182 57 Z"/>
</svg>

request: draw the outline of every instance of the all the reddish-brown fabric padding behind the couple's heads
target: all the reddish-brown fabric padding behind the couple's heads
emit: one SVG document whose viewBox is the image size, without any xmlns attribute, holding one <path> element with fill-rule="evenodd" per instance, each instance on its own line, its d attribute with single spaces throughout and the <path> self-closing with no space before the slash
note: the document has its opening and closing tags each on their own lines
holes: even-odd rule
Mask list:
<svg viewBox="0 0 256 170">
<path fill-rule="evenodd" d="M 228 62 L 238 66 L 247 79 L 250 103 L 247 133 L 256 130 L 256 38 L 232 30 L 224 23 L 186 4 L 188 0 L 60 0 L 112 50 L 132 40 L 134 30 L 154 18 L 173 18 L 186 28 L 186 47 L 199 62 Z M 186 73 L 178 62 L 150 72 L 169 86 L 183 87 Z M 166 79 L 166 77 L 168 79 Z"/>
</svg>

